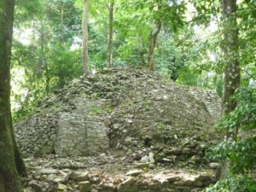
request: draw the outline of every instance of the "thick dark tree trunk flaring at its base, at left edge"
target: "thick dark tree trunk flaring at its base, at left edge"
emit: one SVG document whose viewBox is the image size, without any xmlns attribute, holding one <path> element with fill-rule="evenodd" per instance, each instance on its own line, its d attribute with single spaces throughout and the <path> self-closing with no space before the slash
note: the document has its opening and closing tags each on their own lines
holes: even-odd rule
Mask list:
<svg viewBox="0 0 256 192">
<path fill-rule="evenodd" d="M 0 191 L 23 191 L 15 164 L 15 139 L 10 113 L 10 55 L 14 0 L 0 0 Z"/>
</svg>

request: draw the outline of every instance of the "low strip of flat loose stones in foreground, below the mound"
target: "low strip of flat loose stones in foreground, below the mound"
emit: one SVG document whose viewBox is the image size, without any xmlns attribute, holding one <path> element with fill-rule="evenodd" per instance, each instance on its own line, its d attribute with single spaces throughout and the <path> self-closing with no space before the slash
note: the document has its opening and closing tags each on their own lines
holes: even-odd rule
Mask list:
<svg viewBox="0 0 256 192">
<path fill-rule="evenodd" d="M 152 160 L 149 162 L 154 165 Z M 195 171 L 157 164 L 147 168 L 141 166 L 144 161 L 145 158 L 137 162 L 111 152 L 75 160 L 28 158 L 30 177 L 26 192 L 195 192 L 214 182 L 214 171 L 209 168 Z"/>
</svg>

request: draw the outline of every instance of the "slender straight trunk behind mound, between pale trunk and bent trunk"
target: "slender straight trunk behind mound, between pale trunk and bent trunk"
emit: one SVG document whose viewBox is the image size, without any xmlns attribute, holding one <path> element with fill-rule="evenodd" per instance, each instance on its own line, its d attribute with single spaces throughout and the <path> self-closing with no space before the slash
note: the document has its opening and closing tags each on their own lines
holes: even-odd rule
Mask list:
<svg viewBox="0 0 256 192">
<path fill-rule="evenodd" d="M 113 47 L 113 6 L 114 0 L 111 0 L 108 6 L 109 13 L 109 32 L 108 32 L 108 53 L 107 53 L 107 67 L 112 67 L 113 57 L 112 57 L 112 47 Z"/>
</svg>

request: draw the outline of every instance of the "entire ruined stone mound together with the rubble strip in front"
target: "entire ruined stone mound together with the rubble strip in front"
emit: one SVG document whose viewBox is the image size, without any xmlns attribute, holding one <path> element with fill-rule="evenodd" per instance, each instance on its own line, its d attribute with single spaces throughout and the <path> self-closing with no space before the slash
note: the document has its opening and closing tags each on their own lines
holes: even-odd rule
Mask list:
<svg viewBox="0 0 256 192">
<path fill-rule="evenodd" d="M 219 113 L 212 90 L 142 69 L 76 79 L 15 125 L 26 191 L 201 191 L 219 166 L 204 157 Z"/>
</svg>

